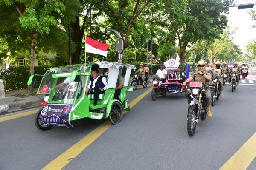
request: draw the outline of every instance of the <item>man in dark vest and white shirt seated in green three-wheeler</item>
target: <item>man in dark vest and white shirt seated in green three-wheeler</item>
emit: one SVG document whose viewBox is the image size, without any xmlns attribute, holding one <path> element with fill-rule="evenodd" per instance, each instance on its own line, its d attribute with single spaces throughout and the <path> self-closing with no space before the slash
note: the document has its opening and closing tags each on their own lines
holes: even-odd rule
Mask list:
<svg viewBox="0 0 256 170">
<path fill-rule="evenodd" d="M 89 85 L 86 87 L 86 94 L 94 94 L 93 105 L 97 105 L 99 99 L 99 94 L 105 93 L 107 89 L 107 79 L 106 77 L 99 75 L 99 70 L 92 70 L 93 79 L 91 79 Z"/>
</svg>

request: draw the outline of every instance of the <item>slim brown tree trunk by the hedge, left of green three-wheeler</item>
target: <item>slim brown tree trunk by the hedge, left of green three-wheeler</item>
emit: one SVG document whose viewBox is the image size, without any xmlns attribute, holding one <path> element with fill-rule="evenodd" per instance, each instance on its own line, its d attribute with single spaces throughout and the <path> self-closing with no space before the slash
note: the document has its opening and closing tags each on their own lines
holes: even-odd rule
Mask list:
<svg viewBox="0 0 256 170">
<path fill-rule="evenodd" d="M 31 50 L 30 50 L 30 69 L 29 69 L 29 76 L 34 74 L 34 60 L 35 60 L 35 40 L 36 40 L 36 32 L 32 31 L 32 40 L 31 40 Z M 32 92 L 32 86 L 28 86 L 28 95 L 31 95 Z"/>
</svg>

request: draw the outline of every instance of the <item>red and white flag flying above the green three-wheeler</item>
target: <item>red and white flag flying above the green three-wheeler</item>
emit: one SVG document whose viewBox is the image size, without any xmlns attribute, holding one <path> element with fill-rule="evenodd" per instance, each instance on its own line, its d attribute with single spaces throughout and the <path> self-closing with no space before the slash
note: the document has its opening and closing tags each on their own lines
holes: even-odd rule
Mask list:
<svg viewBox="0 0 256 170">
<path fill-rule="evenodd" d="M 85 52 L 99 54 L 107 57 L 108 44 L 93 40 L 92 38 L 85 36 Z"/>
</svg>

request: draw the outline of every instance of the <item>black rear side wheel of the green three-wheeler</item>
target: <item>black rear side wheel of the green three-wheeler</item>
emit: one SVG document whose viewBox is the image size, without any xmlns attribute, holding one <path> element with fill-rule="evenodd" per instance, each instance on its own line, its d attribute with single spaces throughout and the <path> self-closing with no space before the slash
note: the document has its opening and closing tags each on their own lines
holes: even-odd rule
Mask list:
<svg viewBox="0 0 256 170">
<path fill-rule="evenodd" d="M 111 105 L 111 110 L 108 115 L 108 119 L 112 124 L 117 124 L 121 121 L 122 118 L 122 106 L 119 102 L 113 102 Z"/>
</svg>

